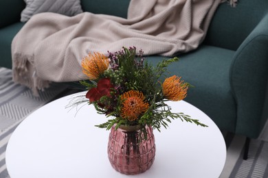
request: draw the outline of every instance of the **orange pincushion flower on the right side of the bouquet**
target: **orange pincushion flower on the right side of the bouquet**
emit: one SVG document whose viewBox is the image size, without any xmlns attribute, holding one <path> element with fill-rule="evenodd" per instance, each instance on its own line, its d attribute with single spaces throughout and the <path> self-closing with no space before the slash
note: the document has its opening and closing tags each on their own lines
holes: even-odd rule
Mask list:
<svg viewBox="0 0 268 178">
<path fill-rule="evenodd" d="M 181 77 L 173 75 L 165 79 L 162 84 L 164 97 L 170 101 L 180 101 L 186 97 L 188 84 L 181 80 Z"/>
</svg>

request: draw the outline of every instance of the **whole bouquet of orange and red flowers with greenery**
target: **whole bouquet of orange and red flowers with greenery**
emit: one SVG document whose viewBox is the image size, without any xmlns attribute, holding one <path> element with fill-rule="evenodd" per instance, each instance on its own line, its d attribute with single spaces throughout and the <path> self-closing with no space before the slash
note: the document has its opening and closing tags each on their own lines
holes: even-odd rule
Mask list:
<svg viewBox="0 0 268 178">
<path fill-rule="evenodd" d="M 109 56 L 97 52 L 85 56 L 81 66 L 89 80 L 80 81 L 88 90 L 85 97 L 98 113 L 111 116 L 96 126 L 111 129 L 115 125 L 118 129 L 148 125 L 160 131 L 171 119 L 180 118 L 206 127 L 186 114 L 171 112 L 165 103 L 184 99 L 190 87 L 181 77 L 164 77 L 167 66 L 177 60 L 163 60 L 152 66 L 143 58 L 142 50 L 136 55 L 135 47 L 123 47 L 122 51 L 109 52 Z"/>
</svg>

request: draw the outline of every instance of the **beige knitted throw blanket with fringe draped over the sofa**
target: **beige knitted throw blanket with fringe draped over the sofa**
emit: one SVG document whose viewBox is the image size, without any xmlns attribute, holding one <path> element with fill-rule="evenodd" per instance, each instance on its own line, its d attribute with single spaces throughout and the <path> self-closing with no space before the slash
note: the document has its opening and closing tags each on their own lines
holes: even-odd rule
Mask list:
<svg viewBox="0 0 268 178">
<path fill-rule="evenodd" d="M 93 51 L 135 46 L 144 55 L 170 56 L 196 49 L 221 1 L 133 0 L 126 19 L 36 14 L 12 41 L 13 79 L 37 94 L 51 81 L 85 79 L 80 62 Z"/>
</svg>

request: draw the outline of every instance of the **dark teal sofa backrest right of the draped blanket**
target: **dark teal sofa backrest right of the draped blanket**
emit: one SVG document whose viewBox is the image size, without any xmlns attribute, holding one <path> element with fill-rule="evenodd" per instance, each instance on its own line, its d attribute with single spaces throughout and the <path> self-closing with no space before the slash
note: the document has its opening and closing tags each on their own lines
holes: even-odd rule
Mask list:
<svg viewBox="0 0 268 178">
<path fill-rule="evenodd" d="M 268 1 L 238 1 L 236 8 L 222 3 L 216 10 L 205 43 L 236 51 L 267 13 Z"/>
</svg>

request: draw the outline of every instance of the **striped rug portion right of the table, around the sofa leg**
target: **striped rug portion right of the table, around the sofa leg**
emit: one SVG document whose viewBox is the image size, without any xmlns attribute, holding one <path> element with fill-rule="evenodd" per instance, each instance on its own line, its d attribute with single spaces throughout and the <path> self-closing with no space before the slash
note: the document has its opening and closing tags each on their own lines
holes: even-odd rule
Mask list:
<svg viewBox="0 0 268 178">
<path fill-rule="evenodd" d="M 243 160 L 244 136 L 223 132 L 227 147 L 225 167 L 221 178 L 268 178 L 268 142 L 252 139 L 248 159 Z"/>
</svg>

